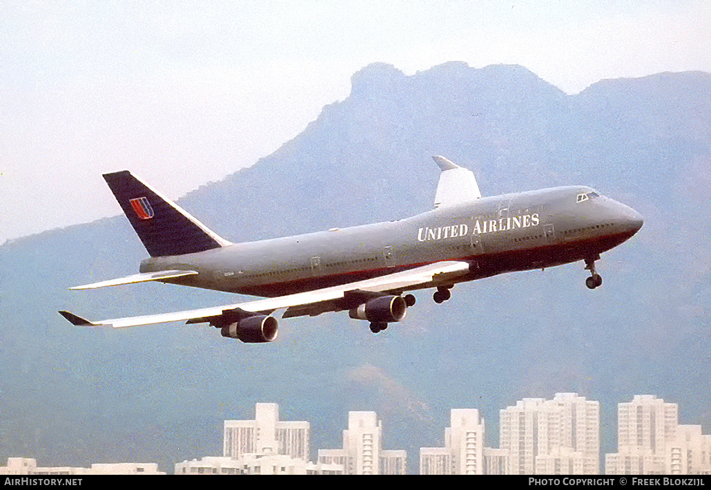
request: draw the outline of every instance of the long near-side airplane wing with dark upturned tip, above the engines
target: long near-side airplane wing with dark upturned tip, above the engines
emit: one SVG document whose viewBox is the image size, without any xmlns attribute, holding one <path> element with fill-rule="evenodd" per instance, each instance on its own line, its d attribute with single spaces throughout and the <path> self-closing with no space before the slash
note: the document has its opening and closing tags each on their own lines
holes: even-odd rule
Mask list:
<svg viewBox="0 0 711 490">
<path fill-rule="evenodd" d="M 225 311 L 239 308 L 250 313 L 270 314 L 275 310 L 287 308 L 284 318 L 301 315 L 315 316 L 326 311 L 340 311 L 354 308 L 366 301 L 365 298 L 381 294 L 400 294 L 402 291 L 451 285 L 461 276 L 469 272 L 469 264 L 461 261 L 446 261 L 428 264 L 408 271 L 388 274 L 364 281 L 333 286 L 329 288 L 289 294 L 276 298 L 263 298 L 245 303 L 213 306 L 197 310 L 159 313 L 157 315 L 133 316 L 127 318 L 109 318 L 107 320 L 90 321 L 76 316 L 68 311 L 59 313 L 73 325 L 114 328 L 132 327 L 137 325 L 153 325 L 173 321 L 186 323 L 210 322 L 223 315 Z M 354 306 L 355 303 L 355 306 Z"/>
</svg>

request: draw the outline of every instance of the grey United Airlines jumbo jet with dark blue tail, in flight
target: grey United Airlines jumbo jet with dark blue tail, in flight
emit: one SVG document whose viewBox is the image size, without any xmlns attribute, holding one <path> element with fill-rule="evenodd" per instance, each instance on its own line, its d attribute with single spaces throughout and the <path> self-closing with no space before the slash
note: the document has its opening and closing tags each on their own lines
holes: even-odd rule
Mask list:
<svg viewBox="0 0 711 490">
<path fill-rule="evenodd" d="M 90 321 L 60 311 L 74 325 L 209 323 L 224 337 L 271 342 L 282 318 L 348 311 L 378 333 L 415 305 L 410 291 L 496 274 L 584 261 L 588 288 L 602 285 L 595 261 L 629 239 L 643 220 L 631 207 L 584 186 L 482 197 L 474 174 L 433 157 L 442 174 L 434 209 L 414 217 L 279 239 L 232 244 L 130 172 L 105 174 L 150 257 L 139 273 L 76 286 L 159 281 L 260 299 L 191 311 Z"/>
</svg>

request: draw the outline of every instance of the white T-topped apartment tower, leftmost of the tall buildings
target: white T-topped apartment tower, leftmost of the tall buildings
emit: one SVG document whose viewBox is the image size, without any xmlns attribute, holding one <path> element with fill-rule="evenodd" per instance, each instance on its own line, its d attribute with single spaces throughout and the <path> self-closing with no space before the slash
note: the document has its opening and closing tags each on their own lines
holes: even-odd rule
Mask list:
<svg viewBox="0 0 711 490">
<path fill-rule="evenodd" d="M 257 403 L 254 420 L 225 420 L 223 455 L 285 454 L 309 461 L 309 422 L 282 422 L 276 403 Z"/>
</svg>

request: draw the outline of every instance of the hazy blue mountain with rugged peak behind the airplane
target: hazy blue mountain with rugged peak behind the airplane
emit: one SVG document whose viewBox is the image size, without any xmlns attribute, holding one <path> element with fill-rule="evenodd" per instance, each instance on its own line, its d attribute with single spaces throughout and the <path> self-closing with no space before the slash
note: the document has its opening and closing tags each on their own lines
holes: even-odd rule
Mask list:
<svg viewBox="0 0 711 490">
<path fill-rule="evenodd" d="M 474 170 L 483 194 L 587 184 L 645 225 L 603 255 L 595 291 L 570 264 L 459 285 L 444 305 L 418 293 L 380 335 L 342 314 L 284 320 L 269 345 L 204 325 L 85 330 L 60 318 L 234 300 L 156 284 L 67 291 L 137 269 L 146 254 L 124 217 L 12 241 L 0 246 L 0 457 L 172 471 L 221 454 L 223 419 L 252 417 L 255 402 L 309 420 L 314 457 L 340 447 L 349 410 L 375 410 L 410 472 L 419 447 L 444 443 L 451 408 L 478 408 L 497 447 L 498 410 L 555 392 L 599 400 L 603 453 L 616 448 L 616 404 L 635 394 L 677 402 L 682 423 L 711 432 L 711 74 L 566 95 L 522 66 L 407 76 L 375 63 L 352 85 L 294 140 L 181 206 L 232 241 L 397 219 L 432 208 L 439 154 Z"/>
</svg>

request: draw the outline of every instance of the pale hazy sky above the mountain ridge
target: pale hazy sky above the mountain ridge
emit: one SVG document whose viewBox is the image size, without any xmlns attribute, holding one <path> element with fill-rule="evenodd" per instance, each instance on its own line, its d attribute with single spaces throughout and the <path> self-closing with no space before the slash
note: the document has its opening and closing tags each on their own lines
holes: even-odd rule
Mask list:
<svg viewBox="0 0 711 490">
<path fill-rule="evenodd" d="M 518 63 L 577 93 L 711 72 L 709 26 L 708 1 L 0 0 L 0 244 L 119 214 L 104 172 L 176 199 L 252 165 L 368 63 Z"/>
</svg>

